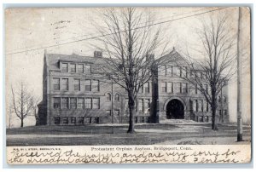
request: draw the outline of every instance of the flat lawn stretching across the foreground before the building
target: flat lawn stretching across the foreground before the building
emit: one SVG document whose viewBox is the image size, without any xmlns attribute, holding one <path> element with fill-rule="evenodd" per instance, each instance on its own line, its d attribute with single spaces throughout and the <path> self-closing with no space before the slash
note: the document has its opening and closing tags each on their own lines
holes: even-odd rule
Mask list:
<svg viewBox="0 0 256 172">
<path fill-rule="evenodd" d="M 210 123 L 140 123 L 136 134 L 127 124 L 84 126 L 32 126 L 7 129 L 7 146 L 44 145 L 166 145 L 250 143 L 251 127 L 243 126 L 247 141 L 236 142 L 236 123 L 222 123 L 212 131 Z"/>
</svg>

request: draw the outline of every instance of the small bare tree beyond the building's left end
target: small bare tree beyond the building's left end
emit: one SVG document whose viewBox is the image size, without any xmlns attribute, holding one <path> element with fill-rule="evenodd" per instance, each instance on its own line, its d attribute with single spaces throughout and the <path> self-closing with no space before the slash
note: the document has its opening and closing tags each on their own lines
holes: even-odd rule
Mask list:
<svg viewBox="0 0 256 172">
<path fill-rule="evenodd" d="M 20 127 L 24 126 L 24 119 L 33 113 L 38 100 L 32 95 L 32 93 L 26 88 L 23 81 L 18 84 L 18 88 L 12 90 L 12 112 L 20 118 Z M 34 116 L 34 114 L 32 115 Z"/>
</svg>

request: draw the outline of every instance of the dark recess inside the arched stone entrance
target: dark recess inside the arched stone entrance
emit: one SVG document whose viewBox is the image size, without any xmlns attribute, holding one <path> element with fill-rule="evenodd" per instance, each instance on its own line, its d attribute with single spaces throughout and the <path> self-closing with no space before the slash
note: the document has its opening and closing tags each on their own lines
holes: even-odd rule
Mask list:
<svg viewBox="0 0 256 172">
<path fill-rule="evenodd" d="M 166 106 L 166 118 L 167 119 L 183 119 L 184 118 L 184 106 L 180 100 L 170 100 Z"/>
</svg>

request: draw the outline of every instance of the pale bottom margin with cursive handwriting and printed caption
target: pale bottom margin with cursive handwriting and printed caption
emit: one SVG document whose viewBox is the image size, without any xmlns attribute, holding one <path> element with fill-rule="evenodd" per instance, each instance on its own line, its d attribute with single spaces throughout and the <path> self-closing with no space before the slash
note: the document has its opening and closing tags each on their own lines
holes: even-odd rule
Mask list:
<svg viewBox="0 0 256 172">
<path fill-rule="evenodd" d="M 249 161 L 249 146 L 8 147 L 8 163 L 11 164 L 247 163 Z"/>
</svg>

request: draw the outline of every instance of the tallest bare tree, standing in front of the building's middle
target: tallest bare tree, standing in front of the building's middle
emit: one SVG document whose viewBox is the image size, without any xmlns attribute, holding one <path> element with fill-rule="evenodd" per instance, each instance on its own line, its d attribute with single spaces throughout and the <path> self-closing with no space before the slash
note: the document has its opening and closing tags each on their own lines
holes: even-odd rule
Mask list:
<svg viewBox="0 0 256 172">
<path fill-rule="evenodd" d="M 151 78 L 151 66 L 160 65 L 162 60 L 154 57 L 155 49 L 162 47 L 165 53 L 168 43 L 160 38 L 160 27 L 152 27 L 152 15 L 142 9 L 106 9 L 102 13 L 103 26 L 96 26 L 102 37 L 97 40 L 106 54 L 102 71 L 112 76 L 113 83 L 124 88 L 128 95 L 129 129 L 135 133 L 134 114 L 137 93 Z M 113 77 L 114 76 L 114 77 Z"/>
</svg>

